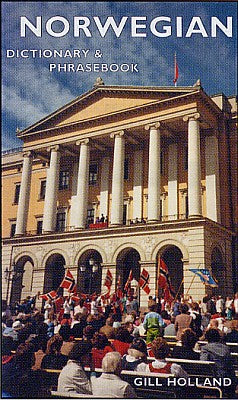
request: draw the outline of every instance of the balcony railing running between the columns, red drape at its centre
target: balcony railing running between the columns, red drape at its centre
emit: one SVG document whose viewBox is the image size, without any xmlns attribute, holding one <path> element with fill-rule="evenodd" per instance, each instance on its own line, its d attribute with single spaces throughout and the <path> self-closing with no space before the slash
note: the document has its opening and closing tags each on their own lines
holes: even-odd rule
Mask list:
<svg viewBox="0 0 238 400">
<path fill-rule="evenodd" d="M 187 219 L 188 219 L 188 216 L 186 216 L 186 214 L 163 215 L 162 217 L 160 217 L 160 220 L 158 221 L 158 224 L 161 223 L 161 222 L 175 222 L 175 221 L 182 221 L 182 220 L 187 220 Z M 140 225 L 142 226 L 142 225 L 146 225 L 146 224 L 149 224 L 148 221 L 147 221 L 147 218 L 143 218 L 143 219 L 135 218 L 135 219 L 127 220 L 124 224 L 121 225 L 121 227 L 123 227 L 123 226 L 134 226 L 135 227 L 135 226 L 140 226 Z M 110 226 L 110 224 L 108 225 L 106 222 L 104 222 L 104 223 L 95 223 L 95 224 L 90 223 L 85 227 L 86 230 L 97 230 L 97 229 L 108 229 L 108 228 L 113 228 L 113 226 Z M 75 228 L 74 226 L 66 226 L 62 230 L 49 232 L 49 234 L 52 234 L 52 233 L 60 234 L 60 233 L 67 233 L 67 232 L 75 232 L 77 230 L 78 229 Z M 27 231 L 22 236 L 23 237 L 24 236 L 39 236 L 39 235 L 42 235 L 42 236 L 44 235 L 45 236 L 46 234 L 47 233 L 43 234 L 42 232 L 39 232 L 37 230 L 32 230 L 32 231 Z"/>
</svg>

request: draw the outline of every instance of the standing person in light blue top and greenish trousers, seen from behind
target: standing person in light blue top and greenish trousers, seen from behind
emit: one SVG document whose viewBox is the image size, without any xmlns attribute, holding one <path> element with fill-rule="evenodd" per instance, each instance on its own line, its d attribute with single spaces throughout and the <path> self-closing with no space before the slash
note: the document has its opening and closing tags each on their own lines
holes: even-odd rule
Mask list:
<svg viewBox="0 0 238 400">
<path fill-rule="evenodd" d="M 144 319 L 143 326 L 146 330 L 146 343 L 151 343 L 154 338 L 163 335 L 165 323 L 160 314 L 155 312 L 155 309 L 156 305 L 151 305 Z"/>
</svg>

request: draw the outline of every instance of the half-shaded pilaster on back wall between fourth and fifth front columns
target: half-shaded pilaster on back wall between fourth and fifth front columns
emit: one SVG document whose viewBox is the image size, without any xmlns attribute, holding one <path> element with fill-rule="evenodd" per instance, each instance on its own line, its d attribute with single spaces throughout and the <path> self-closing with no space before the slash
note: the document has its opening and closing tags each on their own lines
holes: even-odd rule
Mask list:
<svg viewBox="0 0 238 400">
<path fill-rule="evenodd" d="M 134 152 L 133 219 L 142 218 L 143 150 Z"/>
</svg>

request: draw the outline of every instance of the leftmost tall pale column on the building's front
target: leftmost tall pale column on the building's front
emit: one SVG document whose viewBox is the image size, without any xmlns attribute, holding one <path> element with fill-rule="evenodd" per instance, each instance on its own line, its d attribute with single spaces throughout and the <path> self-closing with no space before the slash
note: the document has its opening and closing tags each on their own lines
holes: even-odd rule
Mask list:
<svg viewBox="0 0 238 400">
<path fill-rule="evenodd" d="M 32 173 L 32 153 L 30 151 L 23 154 L 23 168 L 19 202 L 17 208 L 17 222 L 15 235 L 24 235 L 26 233 L 27 217 L 30 201 Z"/>
</svg>

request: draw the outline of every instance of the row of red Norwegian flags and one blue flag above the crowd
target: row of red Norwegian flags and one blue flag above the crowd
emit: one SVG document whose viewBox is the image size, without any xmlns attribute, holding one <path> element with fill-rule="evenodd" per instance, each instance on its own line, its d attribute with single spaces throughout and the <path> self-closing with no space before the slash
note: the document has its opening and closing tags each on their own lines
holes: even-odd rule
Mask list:
<svg viewBox="0 0 238 400">
<path fill-rule="evenodd" d="M 205 285 L 211 286 L 211 287 L 217 287 L 217 283 L 208 271 L 208 269 L 199 269 L 199 268 L 193 268 L 189 269 L 189 271 L 193 272 L 195 275 L 197 275 L 201 282 L 203 282 Z M 131 282 L 133 279 L 133 270 L 131 269 L 127 278 L 127 281 L 124 286 L 124 290 L 122 288 L 121 284 L 121 277 L 120 275 L 118 276 L 117 279 L 117 284 L 116 284 L 116 290 L 114 293 L 111 294 L 111 288 L 112 288 L 112 283 L 113 283 L 113 276 L 110 271 L 110 269 L 107 270 L 106 276 L 105 276 L 105 281 L 104 281 L 104 286 L 107 288 L 106 292 L 102 293 L 99 297 L 101 300 L 104 302 L 107 299 L 111 299 L 112 301 L 116 301 L 116 299 L 122 299 L 124 296 L 124 293 L 127 293 L 129 295 L 130 290 L 131 290 Z M 148 295 L 150 293 L 150 274 L 149 272 L 143 268 L 138 280 L 138 286 L 144 290 L 144 292 Z M 81 293 L 80 297 L 77 295 L 77 287 L 75 283 L 75 279 L 70 272 L 69 269 L 67 269 L 65 276 L 60 284 L 61 288 L 66 289 L 69 293 L 71 293 L 71 298 L 74 301 L 78 301 L 81 298 L 87 298 L 90 297 L 91 300 L 94 300 L 95 298 L 98 297 L 96 293 L 93 293 L 92 295 L 86 295 L 84 293 Z M 157 278 L 157 289 L 161 288 L 163 289 L 163 294 L 164 294 L 164 299 L 166 301 L 172 301 L 176 297 L 175 290 L 171 284 L 171 279 L 169 275 L 169 270 L 164 262 L 164 260 L 159 257 L 158 259 L 158 278 Z M 42 294 L 40 296 L 44 300 L 52 300 L 54 302 L 60 302 L 60 297 L 58 295 L 57 290 L 52 290 L 49 293 Z"/>
</svg>

